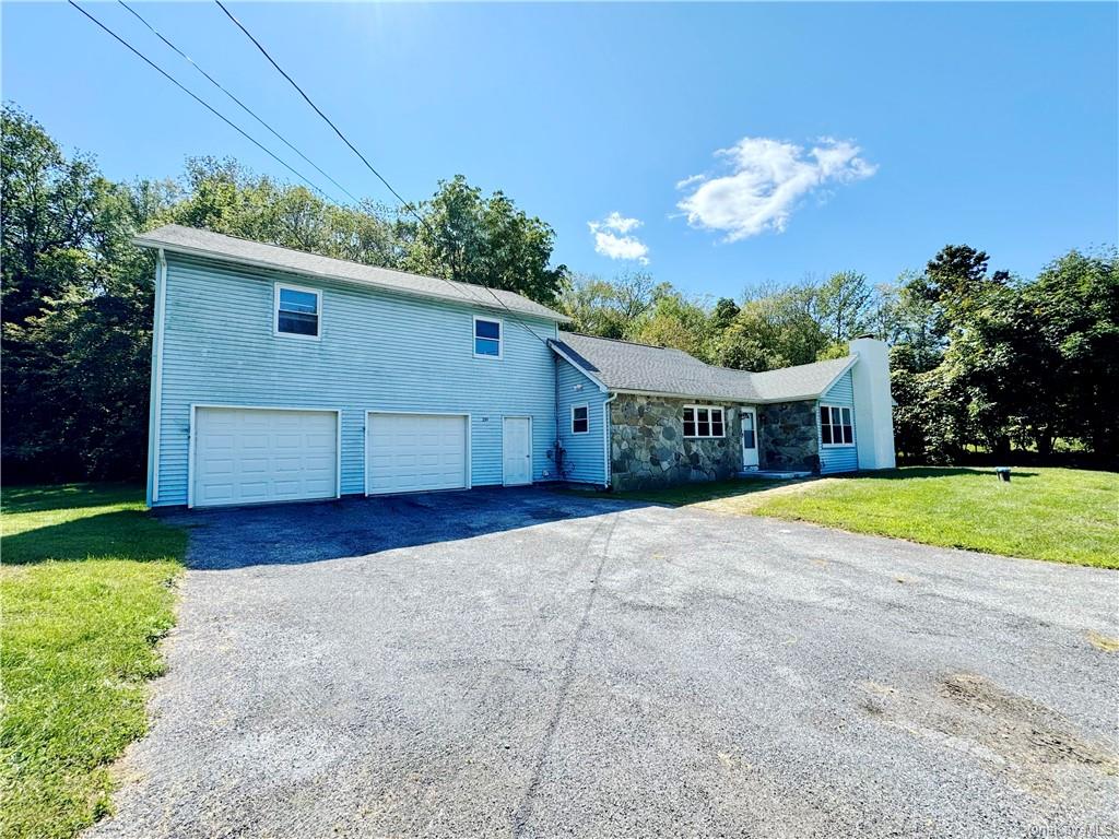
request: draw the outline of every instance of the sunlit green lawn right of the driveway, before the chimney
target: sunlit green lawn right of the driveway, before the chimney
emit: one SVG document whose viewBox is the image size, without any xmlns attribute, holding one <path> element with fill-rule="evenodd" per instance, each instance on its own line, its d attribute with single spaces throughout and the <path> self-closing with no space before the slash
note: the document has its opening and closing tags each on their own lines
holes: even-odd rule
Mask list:
<svg viewBox="0 0 1119 839">
<path fill-rule="evenodd" d="M 1116 472 L 1029 468 L 1015 470 L 1012 481 L 1002 483 L 989 469 L 912 468 L 780 488 L 743 480 L 618 496 L 700 503 L 723 512 L 812 521 L 927 545 L 1119 568 Z"/>
</svg>

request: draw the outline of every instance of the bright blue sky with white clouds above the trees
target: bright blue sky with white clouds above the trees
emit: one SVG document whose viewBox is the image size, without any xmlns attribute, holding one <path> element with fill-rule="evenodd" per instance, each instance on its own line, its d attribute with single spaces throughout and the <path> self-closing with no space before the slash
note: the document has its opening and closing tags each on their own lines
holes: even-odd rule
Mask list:
<svg viewBox="0 0 1119 839">
<path fill-rule="evenodd" d="M 138 8 L 350 191 L 389 199 L 216 6 Z M 502 189 L 576 271 L 646 260 L 737 295 L 890 281 L 947 243 L 1032 274 L 1117 238 L 1113 3 L 231 8 L 405 197 L 457 172 Z M 88 9 L 266 139 L 123 8 Z M 68 6 L 2 16 L 4 100 L 107 176 L 229 154 L 291 179 Z"/>
</svg>

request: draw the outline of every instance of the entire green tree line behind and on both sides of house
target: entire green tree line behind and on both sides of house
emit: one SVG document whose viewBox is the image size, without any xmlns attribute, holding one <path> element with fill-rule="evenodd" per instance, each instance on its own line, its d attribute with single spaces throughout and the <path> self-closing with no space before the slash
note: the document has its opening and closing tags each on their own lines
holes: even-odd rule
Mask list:
<svg viewBox="0 0 1119 839">
<path fill-rule="evenodd" d="M 188 159 L 178 178 L 116 182 L 15 105 L 0 116 L 7 481 L 143 474 L 154 266 L 130 239 L 167 223 L 516 291 L 579 331 L 740 369 L 836 357 L 871 333 L 891 345 L 896 440 L 912 461 L 975 447 L 1119 454 L 1113 247 L 1070 251 L 1027 279 L 955 245 L 892 283 L 844 271 L 713 301 L 643 271 L 554 265 L 549 225 L 461 176 L 411 208 L 337 205 L 215 158 Z"/>
</svg>

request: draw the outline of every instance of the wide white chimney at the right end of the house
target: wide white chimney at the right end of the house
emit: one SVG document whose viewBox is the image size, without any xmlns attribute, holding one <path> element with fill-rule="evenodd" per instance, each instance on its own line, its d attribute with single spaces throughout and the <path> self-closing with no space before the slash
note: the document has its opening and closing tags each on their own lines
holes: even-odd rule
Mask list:
<svg viewBox="0 0 1119 839">
<path fill-rule="evenodd" d="M 850 353 L 858 356 L 850 378 L 855 388 L 855 443 L 859 469 L 893 469 L 894 412 L 890 396 L 890 355 L 885 341 L 856 338 Z"/>
</svg>

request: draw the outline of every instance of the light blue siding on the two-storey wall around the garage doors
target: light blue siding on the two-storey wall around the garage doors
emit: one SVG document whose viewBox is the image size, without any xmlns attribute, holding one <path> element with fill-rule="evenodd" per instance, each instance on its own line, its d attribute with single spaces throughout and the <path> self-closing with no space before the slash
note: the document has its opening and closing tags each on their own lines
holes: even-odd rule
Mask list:
<svg viewBox="0 0 1119 839">
<path fill-rule="evenodd" d="M 469 413 L 472 486 L 501 483 L 501 417 L 533 417 L 534 480 L 551 469 L 551 320 L 168 254 L 158 506 L 187 502 L 190 405 L 341 411 L 341 493 L 365 491 L 368 411 Z M 274 283 L 322 291 L 320 340 L 273 334 Z M 473 357 L 473 315 L 504 357 Z M 529 334 L 526 327 L 542 340 Z"/>
</svg>

